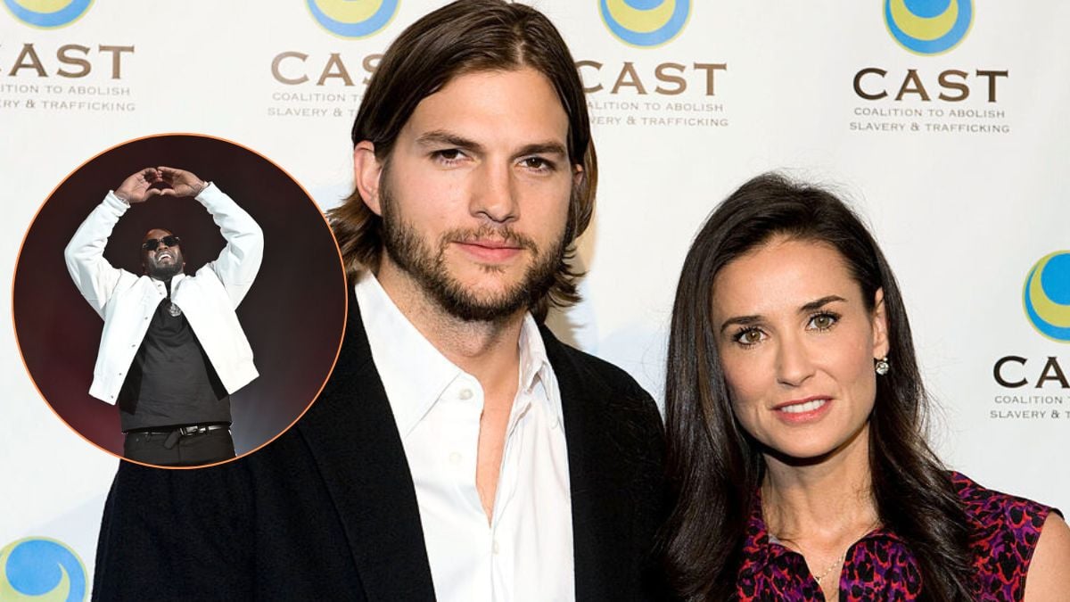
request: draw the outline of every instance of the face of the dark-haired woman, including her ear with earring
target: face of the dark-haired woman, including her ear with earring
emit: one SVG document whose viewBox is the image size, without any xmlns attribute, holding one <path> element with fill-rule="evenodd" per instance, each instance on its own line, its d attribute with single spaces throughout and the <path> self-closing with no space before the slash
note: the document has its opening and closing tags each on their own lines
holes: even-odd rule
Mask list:
<svg viewBox="0 0 1070 602">
<path fill-rule="evenodd" d="M 782 455 L 817 458 L 855 440 L 888 351 L 874 311 L 832 246 L 776 237 L 714 280 L 714 335 L 736 419 Z M 895 367 L 892 368 L 895 370 Z"/>
</svg>

